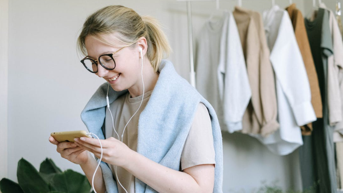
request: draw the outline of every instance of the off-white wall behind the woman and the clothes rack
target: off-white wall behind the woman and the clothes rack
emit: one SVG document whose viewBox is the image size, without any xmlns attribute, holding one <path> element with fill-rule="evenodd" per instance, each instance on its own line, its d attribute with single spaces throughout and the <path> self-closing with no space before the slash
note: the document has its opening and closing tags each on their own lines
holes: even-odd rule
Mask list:
<svg viewBox="0 0 343 193">
<path fill-rule="evenodd" d="M 95 3 L 96 2 L 96 3 Z M 294 0 L 303 10 L 302 0 Z M 221 1 L 221 9 L 233 10 L 236 1 Z M 276 0 L 281 7 L 288 1 Z M 8 176 L 16 180 L 17 162 L 25 158 L 39 167 L 46 157 L 63 170 L 76 166 L 64 160 L 51 145 L 51 132 L 86 129 L 80 119 L 84 105 L 103 82 L 80 63 L 76 37 L 88 14 L 109 4 L 122 4 L 139 14 L 155 16 L 166 27 L 174 53 L 169 57 L 188 79 L 189 54 L 186 2 L 175 0 L 35 0 L 10 1 L 8 67 Z M 269 0 L 246 0 L 243 6 L 263 11 Z M 193 32 L 215 11 L 215 2 L 193 2 Z M 1 22 L 0 22 L 1 23 Z M 1 86 L 1 84 L 0 84 Z M 0 91 L 2 92 L 2 91 Z M 251 192 L 279 180 L 282 188 L 300 189 L 297 152 L 277 156 L 256 139 L 223 134 L 224 192 Z"/>
</svg>

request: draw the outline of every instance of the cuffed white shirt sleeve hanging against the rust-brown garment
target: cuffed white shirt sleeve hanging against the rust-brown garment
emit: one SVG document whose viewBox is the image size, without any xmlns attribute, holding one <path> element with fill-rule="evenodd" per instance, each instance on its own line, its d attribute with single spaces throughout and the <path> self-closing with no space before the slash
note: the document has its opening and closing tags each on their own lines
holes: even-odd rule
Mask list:
<svg viewBox="0 0 343 193">
<path fill-rule="evenodd" d="M 281 20 L 279 34 L 271 54 L 271 61 L 298 126 L 315 121 L 316 114 L 311 104 L 311 90 L 303 58 L 295 39 L 291 20 L 286 12 Z"/>
</svg>

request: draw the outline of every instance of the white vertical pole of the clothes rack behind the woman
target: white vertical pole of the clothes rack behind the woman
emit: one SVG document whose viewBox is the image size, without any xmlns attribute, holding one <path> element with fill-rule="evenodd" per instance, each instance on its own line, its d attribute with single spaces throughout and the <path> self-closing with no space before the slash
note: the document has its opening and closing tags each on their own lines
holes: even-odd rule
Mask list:
<svg viewBox="0 0 343 193">
<path fill-rule="evenodd" d="M 192 8 L 191 1 L 187 1 L 187 19 L 188 19 L 188 40 L 189 40 L 189 62 L 190 62 L 190 83 L 195 87 L 195 72 L 194 72 L 194 58 L 193 58 L 193 31 L 192 31 Z"/>
</svg>

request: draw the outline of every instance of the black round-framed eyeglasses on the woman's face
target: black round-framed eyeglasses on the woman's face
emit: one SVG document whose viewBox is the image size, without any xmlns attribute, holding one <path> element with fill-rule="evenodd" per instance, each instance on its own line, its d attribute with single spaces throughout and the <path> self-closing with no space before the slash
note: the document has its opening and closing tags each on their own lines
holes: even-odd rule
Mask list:
<svg viewBox="0 0 343 193">
<path fill-rule="evenodd" d="M 112 54 L 104 54 L 99 56 L 97 60 L 93 60 L 91 58 L 87 58 L 88 56 L 84 57 L 81 60 L 83 66 L 90 72 L 96 73 L 98 72 L 98 61 L 100 61 L 100 65 L 107 70 L 113 70 L 116 68 L 116 62 L 114 61 L 113 54 L 119 52 L 121 49 L 125 48 L 126 46 L 118 49 L 116 52 Z"/>
</svg>

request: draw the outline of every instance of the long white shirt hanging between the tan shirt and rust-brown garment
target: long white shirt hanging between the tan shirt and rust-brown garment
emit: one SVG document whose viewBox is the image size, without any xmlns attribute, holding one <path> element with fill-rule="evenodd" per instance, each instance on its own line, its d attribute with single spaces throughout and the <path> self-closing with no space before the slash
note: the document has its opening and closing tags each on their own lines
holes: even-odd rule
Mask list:
<svg viewBox="0 0 343 193">
<path fill-rule="evenodd" d="M 278 155 L 287 155 L 303 145 L 300 125 L 315 120 L 311 90 L 303 58 L 288 13 L 277 5 L 263 12 L 263 23 L 275 73 L 280 129 L 262 137 L 262 144 Z"/>
</svg>

